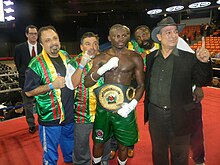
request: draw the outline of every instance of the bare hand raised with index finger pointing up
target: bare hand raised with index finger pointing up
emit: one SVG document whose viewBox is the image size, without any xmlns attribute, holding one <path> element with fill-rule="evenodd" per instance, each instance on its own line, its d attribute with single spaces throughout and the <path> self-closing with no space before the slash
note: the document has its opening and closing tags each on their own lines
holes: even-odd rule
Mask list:
<svg viewBox="0 0 220 165">
<path fill-rule="evenodd" d="M 208 49 L 205 48 L 205 38 L 202 37 L 202 47 L 196 50 L 196 57 L 201 62 L 208 62 L 210 53 Z"/>
</svg>

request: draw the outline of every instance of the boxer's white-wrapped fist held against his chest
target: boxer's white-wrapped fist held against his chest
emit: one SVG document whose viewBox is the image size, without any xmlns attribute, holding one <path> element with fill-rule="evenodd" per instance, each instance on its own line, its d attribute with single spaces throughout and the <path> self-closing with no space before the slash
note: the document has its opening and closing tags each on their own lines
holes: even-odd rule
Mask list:
<svg viewBox="0 0 220 165">
<path fill-rule="evenodd" d="M 118 67 L 118 62 L 119 62 L 119 58 L 118 58 L 118 57 L 112 57 L 112 58 L 110 58 L 110 60 L 108 60 L 107 63 L 105 63 L 103 66 L 101 66 L 101 67 L 97 70 L 97 74 L 101 76 L 101 75 L 103 75 L 105 72 L 107 72 L 108 70 L 117 68 L 117 67 Z"/>
</svg>

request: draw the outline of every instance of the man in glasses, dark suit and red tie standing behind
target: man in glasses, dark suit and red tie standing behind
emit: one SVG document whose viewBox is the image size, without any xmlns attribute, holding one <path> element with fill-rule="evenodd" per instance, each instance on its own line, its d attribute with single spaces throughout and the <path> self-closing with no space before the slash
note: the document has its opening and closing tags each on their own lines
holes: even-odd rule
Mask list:
<svg viewBox="0 0 220 165">
<path fill-rule="evenodd" d="M 29 126 L 29 132 L 34 133 L 36 131 L 36 125 L 34 121 L 34 97 L 27 97 L 23 91 L 25 81 L 25 70 L 28 64 L 34 56 L 42 51 L 41 45 L 37 42 L 37 27 L 29 25 L 25 29 L 25 35 L 27 41 L 23 42 L 15 47 L 14 60 L 19 73 L 19 86 L 22 89 L 22 99 L 25 109 L 26 121 Z"/>
</svg>

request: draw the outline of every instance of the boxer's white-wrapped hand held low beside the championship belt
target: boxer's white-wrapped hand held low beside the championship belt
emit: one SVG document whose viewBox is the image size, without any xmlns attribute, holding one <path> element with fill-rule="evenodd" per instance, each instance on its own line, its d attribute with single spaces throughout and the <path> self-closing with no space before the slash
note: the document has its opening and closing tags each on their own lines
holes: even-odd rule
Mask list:
<svg viewBox="0 0 220 165">
<path fill-rule="evenodd" d="M 137 104 L 138 104 L 138 102 L 136 99 L 133 99 L 130 103 L 124 103 L 122 105 L 122 108 L 120 108 L 117 113 L 121 117 L 126 118 L 126 117 L 128 117 L 129 113 L 135 109 Z"/>
</svg>

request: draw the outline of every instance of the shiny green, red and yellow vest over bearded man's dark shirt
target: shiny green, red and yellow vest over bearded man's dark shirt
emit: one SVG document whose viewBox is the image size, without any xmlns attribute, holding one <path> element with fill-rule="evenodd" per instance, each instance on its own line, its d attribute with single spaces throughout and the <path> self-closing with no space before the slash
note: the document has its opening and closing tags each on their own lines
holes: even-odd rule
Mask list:
<svg viewBox="0 0 220 165">
<path fill-rule="evenodd" d="M 29 63 L 29 73 L 35 73 L 29 76 L 25 82 L 25 91 L 30 91 L 39 85 L 45 85 L 53 82 L 57 75 L 65 76 L 66 66 L 69 62 L 67 52 L 59 51 L 59 58 L 62 60 L 62 69 L 57 71 L 56 65 L 53 64 L 53 58 L 50 58 L 45 50 Z M 60 61 L 61 61 L 60 60 Z M 34 77 L 33 77 L 34 76 Z M 73 118 L 67 114 L 73 114 L 73 100 L 66 102 L 65 100 L 73 97 L 72 91 L 68 88 L 53 89 L 49 92 L 35 96 L 36 111 L 39 116 L 38 121 L 42 125 L 59 125 L 62 123 L 73 122 Z"/>
</svg>

